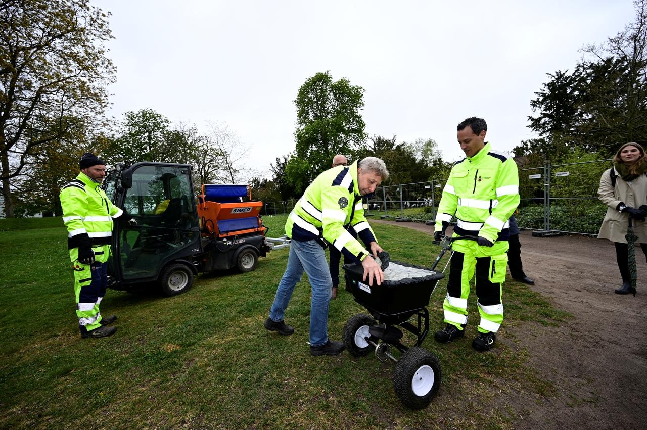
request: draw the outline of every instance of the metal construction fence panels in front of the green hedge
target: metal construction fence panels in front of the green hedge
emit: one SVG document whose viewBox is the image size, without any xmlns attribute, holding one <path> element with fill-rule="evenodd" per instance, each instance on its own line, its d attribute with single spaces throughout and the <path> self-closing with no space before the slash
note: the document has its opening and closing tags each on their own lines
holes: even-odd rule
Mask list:
<svg viewBox="0 0 647 430">
<path fill-rule="evenodd" d="M 516 215 L 520 228 L 543 235 L 572 233 L 597 235 L 606 213 L 598 200 L 602 173 L 611 160 L 519 167 L 521 202 Z M 380 187 L 373 199 L 364 200 L 367 216 L 399 222 L 430 222 L 443 196 L 447 178 L 415 184 Z M 265 202 L 262 215 L 287 215 L 296 200 Z"/>
</svg>

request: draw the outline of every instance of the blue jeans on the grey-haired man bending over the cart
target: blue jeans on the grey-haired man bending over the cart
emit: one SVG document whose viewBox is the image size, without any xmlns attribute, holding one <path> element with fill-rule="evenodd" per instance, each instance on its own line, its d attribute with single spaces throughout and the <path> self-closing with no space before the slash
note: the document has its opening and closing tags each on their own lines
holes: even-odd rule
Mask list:
<svg viewBox="0 0 647 430">
<path fill-rule="evenodd" d="M 292 241 L 287 257 L 287 268 L 281 278 L 274 303 L 270 308 L 272 321 L 283 321 L 294 287 L 301 281 L 303 272 L 308 275 L 312 288 L 310 303 L 310 345 L 318 347 L 328 341 L 328 306 L 333 281 L 325 259 L 325 251 L 317 241 Z"/>
</svg>

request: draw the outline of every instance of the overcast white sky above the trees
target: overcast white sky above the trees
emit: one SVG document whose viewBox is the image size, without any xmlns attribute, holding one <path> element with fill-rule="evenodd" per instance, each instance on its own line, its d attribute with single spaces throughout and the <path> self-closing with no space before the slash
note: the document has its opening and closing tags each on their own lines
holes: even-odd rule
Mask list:
<svg viewBox="0 0 647 430">
<path fill-rule="evenodd" d="M 487 120 L 510 151 L 547 73 L 573 69 L 587 43 L 631 23 L 630 0 L 91 0 L 112 13 L 111 115 L 149 107 L 208 133 L 225 122 L 252 150 L 247 167 L 294 150 L 294 99 L 330 70 L 364 93 L 366 132 L 432 138 L 462 152 L 455 127 Z"/>
</svg>

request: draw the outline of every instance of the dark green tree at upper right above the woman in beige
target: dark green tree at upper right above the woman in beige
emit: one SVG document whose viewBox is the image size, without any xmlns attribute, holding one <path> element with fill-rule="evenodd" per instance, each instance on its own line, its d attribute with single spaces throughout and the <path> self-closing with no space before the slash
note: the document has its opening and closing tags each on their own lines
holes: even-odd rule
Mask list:
<svg viewBox="0 0 647 430">
<path fill-rule="evenodd" d="M 571 74 L 549 74 L 535 93 L 529 127 L 543 139 L 538 151 L 552 160 L 575 148 L 606 158 L 624 142 L 647 144 L 647 0 L 634 5 L 635 22 L 602 45 L 584 47 L 587 59 Z"/>
</svg>

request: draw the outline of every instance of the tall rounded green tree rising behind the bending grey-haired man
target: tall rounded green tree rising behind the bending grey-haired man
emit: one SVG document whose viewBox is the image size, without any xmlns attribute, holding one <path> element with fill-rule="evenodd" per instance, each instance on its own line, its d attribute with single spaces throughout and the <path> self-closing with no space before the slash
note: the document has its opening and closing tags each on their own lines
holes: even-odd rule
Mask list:
<svg viewBox="0 0 647 430">
<path fill-rule="evenodd" d="M 352 156 L 365 145 L 366 124 L 360 111 L 364 108 L 364 89 L 342 78 L 333 81 L 329 71 L 319 72 L 300 87 L 294 100 L 297 120 L 296 149 L 290 160 L 297 166 L 288 169 L 305 174 L 289 177 L 294 182 L 311 182 L 330 168 L 335 154 Z M 307 162 L 309 167 L 304 168 Z"/>
</svg>

